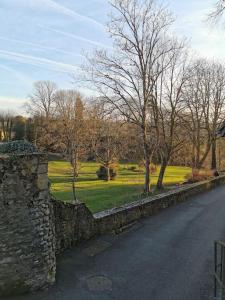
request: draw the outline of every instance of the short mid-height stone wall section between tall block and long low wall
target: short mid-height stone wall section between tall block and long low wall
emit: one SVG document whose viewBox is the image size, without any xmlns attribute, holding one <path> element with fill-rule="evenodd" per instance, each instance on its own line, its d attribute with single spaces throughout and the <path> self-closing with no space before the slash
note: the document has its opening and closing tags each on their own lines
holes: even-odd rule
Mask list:
<svg viewBox="0 0 225 300">
<path fill-rule="evenodd" d="M 97 233 L 94 217 L 84 203 L 53 200 L 53 205 L 57 254 Z"/>
</svg>

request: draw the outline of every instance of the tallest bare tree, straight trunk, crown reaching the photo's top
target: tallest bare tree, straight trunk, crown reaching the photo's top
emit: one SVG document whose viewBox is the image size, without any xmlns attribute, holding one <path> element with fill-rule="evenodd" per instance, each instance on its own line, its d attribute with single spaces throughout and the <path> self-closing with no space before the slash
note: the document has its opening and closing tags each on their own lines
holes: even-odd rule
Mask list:
<svg viewBox="0 0 225 300">
<path fill-rule="evenodd" d="M 96 51 L 94 58 L 89 59 L 92 81 L 109 109 L 141 129 L 146 170 L 144 191 L 149 193 L 151 156 L 157 146 L 150 107 L 155 83 L 167 67 L 165 61 L 161 63 L 161 57 L 173 48 L 167 38 L 173 19 L 153 0 L 114 0 L 111 6 L 114 13 L 109 32 L 114 51 Z"/>
</svg>

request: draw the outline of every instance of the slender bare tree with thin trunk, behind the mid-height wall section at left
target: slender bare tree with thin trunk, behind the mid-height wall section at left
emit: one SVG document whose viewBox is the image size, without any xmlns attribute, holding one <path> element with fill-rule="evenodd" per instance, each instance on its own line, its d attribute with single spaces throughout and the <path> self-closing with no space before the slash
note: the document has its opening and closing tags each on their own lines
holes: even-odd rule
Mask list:
<svg viewBox="0 0 225 300">
<path fill-rule="evenodd" d="M 55 96 L 56 113 L 60 120 L 59 139 L 61 149 L 72 166 L 72 189 L 74 200 L 76 196 L 76 178 L 78 176 L 78 160 L 82 149 L 84 119 L 82 97 L 77 91 L 61 90 Z"/>
</svg>

